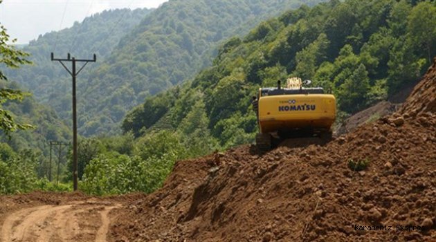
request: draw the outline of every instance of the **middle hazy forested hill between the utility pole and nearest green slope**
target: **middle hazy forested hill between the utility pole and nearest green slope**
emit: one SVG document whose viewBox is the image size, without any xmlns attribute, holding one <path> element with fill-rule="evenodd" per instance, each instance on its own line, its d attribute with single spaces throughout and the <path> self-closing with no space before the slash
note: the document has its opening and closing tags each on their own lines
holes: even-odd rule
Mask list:
<svg viewBox="0 0 436 242">
<path fill-rule="evenodd" d="M 316 2 L 319 0 L 163 3 L 123 37 L 110 57 L 79 86 L 84 98 L 79 104 L 80 132 L 85 136 L 114 133 L 132 106 L 208 66 L 221 39 L 248 32 L 286 9 Z M 62 110 L 64 107 L 57 108 Z"/>
</svg>

